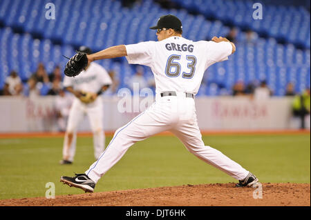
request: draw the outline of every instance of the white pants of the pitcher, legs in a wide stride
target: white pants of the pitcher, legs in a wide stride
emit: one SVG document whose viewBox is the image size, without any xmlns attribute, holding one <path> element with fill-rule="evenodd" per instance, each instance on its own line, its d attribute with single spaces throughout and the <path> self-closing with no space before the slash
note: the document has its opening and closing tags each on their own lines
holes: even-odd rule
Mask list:
<svg viewBox="0 0 311 220">
<path fill-rule="evenodd" d="M 109 146 L 85 174 L 97 183 L 135 142 L 167 130 L 173 132 L 189 152 L 231 177 L 242 180 L 249 173 L 220 151 L 205 146 L 198 128 L 194 99 L 178 93 L 177 96 L 165 97 L 157 94 L 156 102 L 150 108 L 115 131 Z"/>
</svg>

